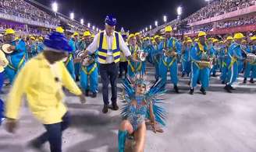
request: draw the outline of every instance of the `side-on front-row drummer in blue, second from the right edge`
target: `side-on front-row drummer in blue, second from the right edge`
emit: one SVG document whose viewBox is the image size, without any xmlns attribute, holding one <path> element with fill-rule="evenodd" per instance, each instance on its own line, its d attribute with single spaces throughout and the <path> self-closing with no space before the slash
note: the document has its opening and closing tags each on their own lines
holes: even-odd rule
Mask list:
<svg viewBox="0 0 256 152">
<path fill-rule="evenodd" d="M 242 56 L 242 46 L 241 42 L 244 40 L 244 35 L 242 33 L 236 33 L 234 35 L 234 42 L 231 43 L 229 50 L 228 50 L 228 59 L 227 63 L 229 65 L 228 67 L 228 81 L 226 83 L 226 86 L 224 89 L 226 92 L 232 93 L 231 90 L 234 88 L 232 87 L 233 82 L 236 81 L 236 78 L 239 74 L 239 61 L 244 60 L 244 57 Z"/>
</svg>

